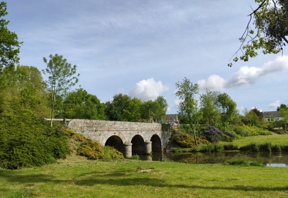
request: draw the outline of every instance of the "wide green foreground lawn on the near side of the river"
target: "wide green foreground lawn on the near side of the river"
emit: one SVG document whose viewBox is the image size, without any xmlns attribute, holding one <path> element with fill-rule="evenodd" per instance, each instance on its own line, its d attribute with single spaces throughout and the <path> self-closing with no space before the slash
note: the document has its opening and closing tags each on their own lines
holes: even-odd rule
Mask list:
<svg viewBox="0 0 288 198">
<path fill-rule="evenodd" d="M 288 197 L 288 169 L 68 157 L 58 164 L 0 169 L 0 197 Z"/>
</svg>

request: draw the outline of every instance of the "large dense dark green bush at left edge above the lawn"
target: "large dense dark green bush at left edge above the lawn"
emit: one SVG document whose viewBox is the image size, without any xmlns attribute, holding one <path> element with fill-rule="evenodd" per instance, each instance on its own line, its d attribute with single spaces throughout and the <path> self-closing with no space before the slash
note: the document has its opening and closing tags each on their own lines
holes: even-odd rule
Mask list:
<svg viewBox="0 0 288 198">
<path fill-rule="evenodd" d="M 64 131 L 31 115 L 0 117 L 0 167 L 40 166 L 65 158 L 69 147 Z"/>
</svg>

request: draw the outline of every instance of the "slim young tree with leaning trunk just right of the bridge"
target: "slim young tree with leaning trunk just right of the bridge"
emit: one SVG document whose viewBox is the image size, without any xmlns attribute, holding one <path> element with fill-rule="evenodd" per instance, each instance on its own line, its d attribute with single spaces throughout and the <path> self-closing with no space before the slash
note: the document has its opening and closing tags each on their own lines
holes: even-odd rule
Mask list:
<svg viewBox="0 0 288 198">
<path fill-rule="evenodd" d="M 179 104 L 179 115 L 180 117 L 185 117 L 188 124 L 192 127 L 195 145 L 198 146 L 196 140 L 196 134 L 194 129 L 194 123 L 197 120 L 197 99 L 196 94 L 199 93 L 198 84 L 193 84 L 186 77 L 182 82 L 177 82 L 176 89 L 178 90 L 175 95 L 181 100 Z"/>
</svg>

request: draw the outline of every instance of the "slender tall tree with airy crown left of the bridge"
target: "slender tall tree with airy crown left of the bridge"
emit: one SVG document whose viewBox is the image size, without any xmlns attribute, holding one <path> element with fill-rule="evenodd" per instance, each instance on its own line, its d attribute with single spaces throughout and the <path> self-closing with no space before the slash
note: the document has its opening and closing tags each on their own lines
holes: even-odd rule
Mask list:
<svg viewBox="0 0 288 198">
<path fill-rule="evenodd" d="M 79 74 L 76 75 L 76 65 L 71 65 L 67 62 L 66 58 L 57 53 L 53 56 L 49 55 L 50 60 L 43 57 L 44 62 L 47 64 L 47 68 L 42 72 L 48 75 L 46 83 L 49 86 L 49 93 L 51 97 L 51 127 L 53 126 L 54 107 L 57 102 L 57 96 L 63 95 L 72 86 L 78 82 Z M 75 76 L 76 75 L 76 76 Z"/>
</svg>

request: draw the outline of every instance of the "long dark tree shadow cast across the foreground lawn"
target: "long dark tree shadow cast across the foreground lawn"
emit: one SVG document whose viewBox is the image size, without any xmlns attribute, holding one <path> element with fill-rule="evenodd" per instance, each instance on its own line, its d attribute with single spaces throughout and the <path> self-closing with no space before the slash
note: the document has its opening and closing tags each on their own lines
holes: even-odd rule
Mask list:
<svg viewBox="0 0 288 198">
<path fill-rule="evenodd" d="M 149 178 L 151 175 L 143 175 L 140 177 L 135 175 L 135 170 L 119 170 L 113 172 L 105 171 L 92 171 L 88 173 L 82 173 L 79 175 L 74 175 L 73 178 L 77 179 L 67 179 L 59 180 L 52 175 L 46 174 L 33 174 L 33 175 L 23 175 L 19 172 L 0 170 L 0 178 L 3 178 L 7 182 L 17 183 L 17 184 L 29 184 L 29 183 L 49 183 L 61 184 L 73 182 L 77 186 L 94 186 L 97 184 L 103 185 L 117 185 L 117 186 L 151 186 L 159 188 L 185 188 L 185 189 L 203 189 L 203 190 L 229 190 L 229 191 L 288 191 L 288 186 L 286 187 L 257 187 L 257 186 L 198 186 L 198 185 L 173 185 L 167 183 L 165 180 Z M 80 179 L 81 177 L 86 177 Z M 88 178 L 87 178 L 88 176 Z M 61 177 L 61 176 L 59 176 Z M 115 179 L 111 177 L 116 177 Z M 124 178 L 117 178 L 124 177 Z M 0 192 L 4 192 L 6 189 L 0 188 Z"/>
</svg>

